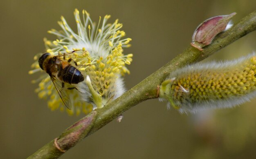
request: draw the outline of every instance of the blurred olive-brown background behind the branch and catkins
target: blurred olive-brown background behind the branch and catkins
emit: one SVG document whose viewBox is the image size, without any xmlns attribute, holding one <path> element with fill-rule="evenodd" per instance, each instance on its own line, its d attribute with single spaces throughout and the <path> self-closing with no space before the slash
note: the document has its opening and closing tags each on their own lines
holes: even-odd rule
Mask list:
<svg viewBox="0 0 256 159">
<path fill-rule="evenodd" d="M 254 11 L 255 0 L 6 0 L 0 2 L 0 158 L 26 158 L 83 117 L 50 111 L 28 75 L 33 57 L 44 52 L 47 30 L 60 30 L 63 15 L 75 29 L 73 11 L 86 9 L 92 20 L 110 14 L 132 38 L 133 61 L 125 76 L 130 89 L 182 52 L 203 20 L 236 12 L 238 22 Z M 206 59 L 238 58 L 256 50 L 250 33 Z M 256 99 L 234 109 L 180 114 L 157 99 L 126 111 L 63 155 L 62 159 L 240 159 L 256 158 Z"/>
</svg>

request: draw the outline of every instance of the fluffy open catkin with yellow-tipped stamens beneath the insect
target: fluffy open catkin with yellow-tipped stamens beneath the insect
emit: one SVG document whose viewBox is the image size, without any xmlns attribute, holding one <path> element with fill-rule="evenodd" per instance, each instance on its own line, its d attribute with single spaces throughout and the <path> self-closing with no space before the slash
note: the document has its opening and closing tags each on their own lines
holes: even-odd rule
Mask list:
<svg viewBox="0 0 256 159">
<path fill-rule="evenodd" d="M 44 38 L 45 50 L 52 56 L 59 56 L 60 60 L 70 62 L 76 71 L 80 71 L 88 83 L 92 85 L 88 91 L 88 85 L 85 80 L 79 83 L 66 83 L 59 77 L 59 70 L 55 70 L 54 77 L 56 78 L 57 87 L 60 86 L 58 92 L 55 90 L 54 84 L 48 74 L 41 76 L 35 82 L 40 82 L 36 93 L 40 98 L 48 99 L 48 106 L 51 110 L 60 109 L 65 111 L 64 101 L 68 102 L 71 110 L 66 110 L 70 115 L 78 115 L 79 113 L 89 113 L 97 107 L 103 107 L 107 102 L 114 100 L 124 93 L 124 83 L 122 77 L 128 74 L 126 68 L 131 62 L 132 54 L 123 54 L 123 48 L 128 47 L 130 38 L 122 38 L 125 35 L 124 31 L 119 30 L 122 24 L 116 20 L 110 24 L 107 20 L 110 15 L 106 15 L 99 24 L 95 25 L 90 18 L 90 14 L 83 10 L 83 17 L 80 17 L 79 11 L 75 9 L 74 17 L 77 25 L 77 31 L 73 31 L 67 24 L 65 18 L 61 16 L 61 21 L 58 24 L 62 30 L 51 29 L 48 33 L 57 35 L 58 39 L 54 41 Z M 97 27 L 97 28 L 96 28 Z M 102 29 L 108 28 L 108 29 Z M 77 34 L 76 34 L 77 33 Z M 61 35 L 61 36 L 58 36 Z M 81 48 L 81 46 L 86 46 Z M 71 52 L 75 51 L 75 52 Z M 68 53 L 69 52 L 69 53 Z M 38 58 L 41 55 L 34 57 L 35 62 L 31 65 L 32 70 L 29 74 L 34 74 L 41 71 L 38 65 Z M 68 61 L 72 59 L 71 61 Z M 62 88 L 62 83 L 65 84 L 65 89 Z M 69 89 L 76 88 L 76 89 Z M 84 93 L 82 93 L 84 92 Z M 92 97 L 92 92 L 98 95 Z M 61 96 L 62 97 L 61 97 Z M 64 99 L 63 101 L 61 100 Z M 99 99 L 101 98 L 101 99 Z M 102 102 L 101 102 L 102 101 Z M 99 102 L 100 105 L 99 105 Z M 90 103 L 90 104 L 89 104 Z M 99 108 L 98 107 L 98 108 Z"/>
</svg>

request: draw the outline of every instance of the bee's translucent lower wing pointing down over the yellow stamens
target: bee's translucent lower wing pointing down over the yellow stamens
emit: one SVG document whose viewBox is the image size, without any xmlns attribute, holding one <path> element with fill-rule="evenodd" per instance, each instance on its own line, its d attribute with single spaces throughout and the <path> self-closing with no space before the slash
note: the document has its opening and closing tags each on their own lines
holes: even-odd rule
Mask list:
<svg viewBox="0 0 256 159">
<path fill-rule="evenodd" d="M 67 107 L 67 109 L 71 109 L 71 103 L 70 98 L 67 94 L 67 91 L 62 88 L 61 81 L 57 81 L 56 78 L 51 77 L 52 83 L 54 87 L 56 88 L 58 95 L 60 95 L 61 100 L 63 101 L 64 105 Z"/>
</svg>

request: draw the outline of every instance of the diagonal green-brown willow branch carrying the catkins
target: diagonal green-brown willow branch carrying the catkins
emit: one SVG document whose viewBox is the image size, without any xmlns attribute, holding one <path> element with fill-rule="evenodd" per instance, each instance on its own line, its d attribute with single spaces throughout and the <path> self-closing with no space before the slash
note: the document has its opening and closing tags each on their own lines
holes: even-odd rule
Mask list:
<svg viewBox="0 0 256 159">
<path fill-rule="evenodd" d="M 234 24 L 229 30 L 217 35 L 212 41 L 212 44 L 204 47 L 202 51 L 189 45 L 186 50 L 162 68 L 148 76 L 110 104 L 101 109 L 92 111 L 89 115 L 70 126 L 62 135 L 40 148 L 29 158 L 46 159 L 60 157 L 68 149 L 81 141 L 81 139 L 99 130 L 124 113 L 124 111 L 144 100 L 157 98 L 157 87 L 164 81 L 168 74 L 176 68 L 199 62 L 254 30 L 256 30 L 256 11 L 244 17 L 237 24 Z"/>
</svg>

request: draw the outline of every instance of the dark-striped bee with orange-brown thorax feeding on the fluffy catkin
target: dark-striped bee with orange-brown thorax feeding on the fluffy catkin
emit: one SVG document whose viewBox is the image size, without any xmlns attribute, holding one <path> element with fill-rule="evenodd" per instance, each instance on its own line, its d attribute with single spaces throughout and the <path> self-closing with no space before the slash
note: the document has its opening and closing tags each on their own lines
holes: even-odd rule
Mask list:
<svg viewBox="0 0 256 159">
<path fill-rule="evenodd" d="M 71 104 L 67 90 L 76 89 L 76 87 L 65 87 L 65 84 L 68 83 L 72 85 L 84 81 L 83 74 L 76 67 L 71 65 L 71 61 L 73 61 L 74 64 L 78 66 L 76 61 L 71 58 L 72 55 L 78 51 L 81 50 L 75 50 L 58 55 L 52 55 L 46 52 L 38 59 L 40 68 L 49 74 L 58 95 L 61 97 L 64 105 L 68 109 L 71 109 Z M 66 58 L 69 59 L 67 60 Z"/>
</svg>

